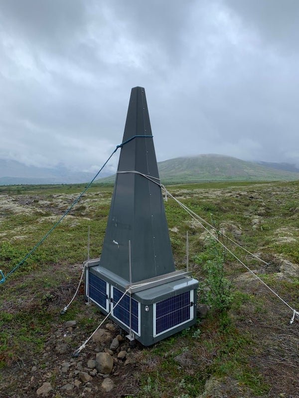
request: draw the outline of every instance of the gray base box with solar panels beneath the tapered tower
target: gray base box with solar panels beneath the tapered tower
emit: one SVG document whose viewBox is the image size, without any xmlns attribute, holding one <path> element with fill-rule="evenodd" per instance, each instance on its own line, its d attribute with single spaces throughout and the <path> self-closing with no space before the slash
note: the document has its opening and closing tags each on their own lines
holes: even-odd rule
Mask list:
<svg viewBox="0 0 299 398">
<path fill-rule="evenodd" d="M 86 271 L 86 297 L 108 314 L 126 291 L 126 281 L 101 266 Z M 127 285 L 127 284 L 126 284 Z M 122 329 L 131 332 L 143 345 L 149 346 L 196 322 L 198 281 L 183 276 L 171 282 L 127 293 L 109 316 Z"/>
</svg>

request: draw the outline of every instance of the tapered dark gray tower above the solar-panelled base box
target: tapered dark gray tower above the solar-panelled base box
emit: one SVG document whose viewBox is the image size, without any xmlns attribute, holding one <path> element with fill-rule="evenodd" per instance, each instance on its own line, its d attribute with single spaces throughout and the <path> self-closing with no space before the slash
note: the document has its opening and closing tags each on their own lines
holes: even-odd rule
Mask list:
<svg viewBox="0 0 299 398">
<path fill-rule="evenodd" d="M 136 138 L 133 138 L 136 137 Z M 133 138 L 133 139 L 132 139 Z M 100 265 L 132 282 L 174 271 L 145 90 L 132 89 Z M 149 176 L 153 181 L 136 173 Z M 117 242 L 117 243 L 115 243 Z"/>
</svg>

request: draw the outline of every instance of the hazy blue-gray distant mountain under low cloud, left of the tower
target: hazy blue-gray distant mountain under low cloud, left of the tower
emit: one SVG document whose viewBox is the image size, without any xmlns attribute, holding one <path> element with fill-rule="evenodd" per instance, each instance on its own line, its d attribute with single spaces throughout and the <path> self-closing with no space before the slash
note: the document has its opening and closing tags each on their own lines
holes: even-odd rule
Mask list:
<svg viewBox="0 0 299 398">
<path fill-rule="evenodd" d="M 95 173 L 74 172 L 63 165 L 45 168 L 0 159 L 0 185 L 86 183 L 91 181 L 94 175 Z"/>
</svg>

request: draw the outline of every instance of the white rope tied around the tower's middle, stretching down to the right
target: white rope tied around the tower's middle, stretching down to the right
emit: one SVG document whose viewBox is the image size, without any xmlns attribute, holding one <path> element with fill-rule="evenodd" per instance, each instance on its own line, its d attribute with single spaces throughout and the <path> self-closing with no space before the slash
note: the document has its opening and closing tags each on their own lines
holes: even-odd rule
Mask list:
<svg viewBox="0 0 299 398">
<path fill-rule="evenodd" d="M 210 230 L 208 230 L 200 221 L 199 219 L 201 219 L 204 223 L 206 223 L 207 225 L 209 225 L 211 228 L 213 228 L 214 230 L 216 230 L 216 228 L 211 225 L 209 222 L 205 221 L 202 217 L 200 217 L 198 214 L 194 213 L 194 211 L 192 211 L 191 209 L 189 209 L 185 204 L 183 204 L 182 202 L 180 202 L 178 199 L 174 198 L 174 196 L 172 196 L 170 194 L 169 191 L 166 190 L 166 188 L 164 187 L 164 185 L 157 183 L 156 181 L 152 180 L 153 178 L 155 180 L 159 180 L 155 177 L 151 177 L 148 176 L 146 174 L 140 173 L 138 171 L 124 171 L 124 172 L 118 172 L 118 173 L 135 173 L 135 174 L 140 174 L 141 176 L 147 178 L 148 180 L 150 180 L 151 182 L 153 182 L 154 184 L 158 185 L 167 195 L 170 196 L 170 198 L 174 199 L 185 211 L 187 211 L 187 213 L 196 221 L 198 222 L 198 224 L 205 229 L 211 236 L 212 238 L 214 238 L 218 243 L 220 243 L 237 261 L 239 261 L 240 264 L 242 264 L 252 275 L 254 275 L 263 285 L 265 285 L 277 298 L 279 298 L 284 304 L 286 304 L 292 311 L 293 311 L 293 317 L 290 321 L 290 323 L 292 324 L 294 322 L 295 316 L 299 317 L 299 312 L 294 309 L 293 307 L 291 307 L 290 304 L 288 304 L 282 297 L 280 297 L 272 288 L 270 288 L 270 286 L 268 286 L 257 274 L 255 274 L 246 264 L 243 263 L 242 260 L 240 260 L 228 247 L 226 247 L 216 236 L 214 236 L 212 234 L 212 232 Z M 198 217 L 198 218 L 196 218 Z M 259 258 L 258 256 L 256 256 L 255 254 L 251 253 L 249 250 L 245 249 L 243 246 L 239 245 L 239 243 L 235 242 L 233 239 L 229 238 L 228 236 L 224 235 L 227 239 L 229 239 L 232 243 L 234 243 L 235 245 L 237 245 L 238 247 L 240 247 L 241 249 L 245 250 L 248 254 L 252 255 L 253 257 L 255 257 L 257 260 L 263 262 L 264 264 L 268 264 L 266 261 L 262 260 L 261 258 Z"/>
</svg>

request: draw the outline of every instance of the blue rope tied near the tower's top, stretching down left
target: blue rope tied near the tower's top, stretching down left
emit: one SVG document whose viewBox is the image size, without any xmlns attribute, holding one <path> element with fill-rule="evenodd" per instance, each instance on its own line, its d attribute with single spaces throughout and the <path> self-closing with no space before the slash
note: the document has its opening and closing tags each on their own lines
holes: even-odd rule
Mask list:
<svg viewBox="0 0 299 398">
<path fill-rule="evenodd" d="M 42 239 L 27 253 L 27 255 L 14 267 L 12 270 L 8 272 L 6 276 L 4 276 L 3 272 L 0 270 L 0 274 L 2 279 L 0 279 L 0 285 L 3 284 L 6 279 L 13 274 L 26 260 L 28 257 L 31 256 L 31 254 L 43 243 L 43 241 L 50 235 L 50 233 L 60 224 L 60 222 L 63 220 L 63 218 L 71 211 L 71 209 L 74 207 L 76 203 L 82 198 L 82 196 L 85 194 L 85 192 L 89 189 L 89 187 L 92 185 L 92 183 L 95 181 L 95 179 L 98 177 L 98 175 L 101 173 L 101 171 L 104 169 L 104 167 L 107 165 L 109 160 L 112 158 L 112 156 L 115 154 L 115 152 L 119 149 L 122 148 L 125 144 L 128 142 L 132 141 L 134 138 L 138 137 L 143 137 L 143 138 L 152 138 L 152 135 L 134 135 L 133 137 L 129 138 L 128 140 L 122 142 L 120 145 L 117 145 L 115 150 L 112 152 L 112 154 L 109 156 L 109 158 L 106 160 L 106 162 L 103 164 L 101 169 L 98 171 L 98 173 L 94 176 L 94 178 L 91 180 L 91 182 L 88 184 L 88 186 L 84 189 L 84 191 L 78 196 L 77 199 L 70 205 L 70 207 L 65 211 L 65 213 L 59 218 L 59 220 L 52 226 L 52 228 L 42 237 Z"/>
</svg>

